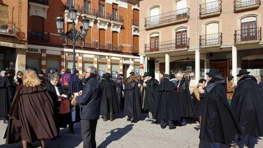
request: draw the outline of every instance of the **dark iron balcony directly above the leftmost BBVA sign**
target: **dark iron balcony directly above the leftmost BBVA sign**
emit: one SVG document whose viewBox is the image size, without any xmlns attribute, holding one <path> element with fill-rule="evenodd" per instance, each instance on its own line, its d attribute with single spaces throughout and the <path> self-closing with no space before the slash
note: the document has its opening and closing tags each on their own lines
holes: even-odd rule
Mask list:
<svg viewBox="0 0 263 148">
<path fill-rule="evenodd" d="M 49 42 L 50 33 L 27 30 L 27 39 L 33 41 Z"/>
</svg>

